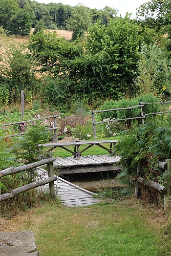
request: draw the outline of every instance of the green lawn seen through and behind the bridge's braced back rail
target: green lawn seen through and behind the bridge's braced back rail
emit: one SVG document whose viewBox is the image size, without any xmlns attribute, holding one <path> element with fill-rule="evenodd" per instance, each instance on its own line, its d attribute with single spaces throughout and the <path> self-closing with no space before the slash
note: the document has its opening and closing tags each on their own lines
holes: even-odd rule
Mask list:
<svg viewBox="0 0 171 256">
<path fill-rule="evenodd" d="M 120 140 L 119 137 L 110 137 L 110 138 L 102 138 L 102 139 L 90 139 L 89 141 L 96 141 L 96 140 Z M 60 143 L 60 140 L 58 141 Z M 110 143 L 104 143 L 103 146 L 106 146 L 107 148 L 110 147 Z M 80 150 L 83 150 L 83 148 L 87 147 L 87 145 L 81 145 Z M 74 146 L 67 146 L 70 150 L 74 150 Z M 66 150 L 63 150 L 60 147 L 56 147 L 53 152 L 53 157 L 69 157 L 73 156 Z M 82 156 L 87 156 L 87 155 L 107 155 L 109 154 L 106 150 L 103 150 L 103 148 L 93 145 L 91 148 L 88 150 L 84 151 L 81 155 Z"/>
</svg>

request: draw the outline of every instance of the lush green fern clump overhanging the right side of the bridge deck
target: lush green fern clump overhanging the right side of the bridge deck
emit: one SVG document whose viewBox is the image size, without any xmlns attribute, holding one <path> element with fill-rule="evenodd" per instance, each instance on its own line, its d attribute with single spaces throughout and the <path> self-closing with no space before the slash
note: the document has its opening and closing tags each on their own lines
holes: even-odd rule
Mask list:
<svg viewBox="0 0 171 256">
<path fill-rule="evenodd" d="M 143 126 L 124 133 L 116 146 L 123 171 L 135 176 L 139 164 L 141 177 L 163 183 L 163 170 L 159 169 L 158 161 L 171 157 L 170 122 L 169 115 L 148 117 Z"/>
</svg>

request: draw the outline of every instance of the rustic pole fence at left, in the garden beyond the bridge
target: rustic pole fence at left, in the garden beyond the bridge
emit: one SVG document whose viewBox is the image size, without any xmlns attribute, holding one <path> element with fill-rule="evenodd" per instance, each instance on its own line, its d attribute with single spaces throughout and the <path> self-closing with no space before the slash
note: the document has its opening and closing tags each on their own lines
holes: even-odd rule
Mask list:
<svg viewBox="0 0 171 256">
<path fill-rule="evenodd" d="M 57 122 L 56 122 L 57 115 L 48 116 L 48 117 L 40 117 L 40 118 L 36 118 L 36 119 L 32 119 L 32 120 L 18 121 L 18 122 L 13 122 L 13 123 L 6 123 L 6 124 L 1 125 L 0 129 L 4 129 L 4 127 L 16 125 L 16 124 L 31 123 L 31 122 L 36 122 L 36 121 L 39 121 L 39 120 L 45 120 L 45 119 L 51 119 L 51 118 L 53 118 L 53 127 L 47 128 L 45 131 L 52 131 L 52 132 L 54 131 L 54 135 L 51 134 L 51 136 L 52 136 L 51 141 L 56 143 L 57 142 L 57 130 L 58 130 L 58 127 L 56 126 L 57 125 Z M 25 132 L 17 133 L 17 134 L 12 134 L 12 135 L 8 135 L 8 136 L 0 137 L 0 139 L 12 138 L 12 137 L 15 137 L 15 136 L 22 136 L 22 135 L 25 135 L 25 134 L 27 134 L 27 133 L 25 133 Z"/>
</svg>

